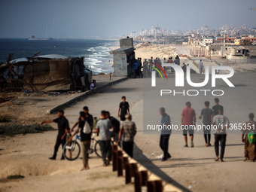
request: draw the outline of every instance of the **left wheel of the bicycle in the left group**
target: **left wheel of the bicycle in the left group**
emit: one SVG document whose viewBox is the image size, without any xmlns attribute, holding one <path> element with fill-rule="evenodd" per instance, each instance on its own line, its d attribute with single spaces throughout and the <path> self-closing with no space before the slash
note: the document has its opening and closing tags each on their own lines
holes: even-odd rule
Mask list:
<svg viewBox="0 0 256 192">
<path fill-rule="evenodd" d="M 76 160 L 78 159 L 81 152 L 80 145 L 76 141 L 71 143 L 67 142 L 64 145 L 63 155 L 67 160 Z"/>
</svg>

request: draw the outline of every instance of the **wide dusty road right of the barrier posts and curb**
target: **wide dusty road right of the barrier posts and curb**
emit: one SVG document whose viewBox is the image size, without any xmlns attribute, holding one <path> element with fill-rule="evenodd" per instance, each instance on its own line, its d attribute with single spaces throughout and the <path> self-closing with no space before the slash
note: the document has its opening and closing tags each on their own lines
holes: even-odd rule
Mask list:
<svg viewBox="0 0 256 192">
<path fill-rule="evenodd" d="M 192 75 L 192 81 L 201 82 L 203 76 Z M 210 78 L 211 79 L 211 78 Z M 255 74 L 235 74 L 230 81 L 236 86 L 230 88 L 223 81 L 217 81 L 218 87 L 211 87 L 211 84 L 203 87 L 204 89 L 224 90 L 224 96 L 219 96 L 221 105 L 224 105 L 224 114 L 230 119 L 231 123 L 244 123 L 248 120 L 248 114 L 254 112 L 256 108 L 254 86 Z M 164 87 L 163 80 L 157 80 L 158 87 Z M 174 90 L 175 77 L 168 77 L 170 90 Z M 144 82 L 145 84 L 145 82 Z M 158 109 L 162 106 L 171 116 L 172 123 L 180 125 L 180 114 L 184 103 L 190 101 L 192 108 L 195 109 L 197 117 L 204 107 L 203 102 L 209 100 L 211 106 L 215 96 L 164 96 L 160 97 L 159 90 L 143 87 L 143 79 L 129 79 L 120 84 L 102 90 L 89 96 L 82 102 L 78 102 L 71 108 L 66 109 L 66 116 L 72 123 L 78 118 L 78 112 L 84 105 L 89 106 L 90 113 L 99 117 L 101 110 L 110 111 L 111 115 L 117 117 L 118 105 L 121 97 L 126 96 L 130 102 L 130 111 L 133 114 L 139 133 L 136 136 L 135 158 L 145 162 L 154 169 L 158 175 L 170 182 L 178 182 L 184 187 L 193 191 L 240 191 L 250 190 L 254 187 L 254 172 L 256 167 L 250 162 L 243 162 L 243 144 L 241 135 L 230 134 L 227 136 L 227 148 L 224 155 L 224 163 L 215 162 L 215 151 L 213 147 L 205 148 L 202 134 L 195 135 L 195 148 L 183 148 L 184 139 L 181 134 L 172 134 L 169 142 L 169 151 L 172 159 L 166 162 L 160 161 L 162 151 L 159 148 L 159 133 L 143 133 L 143 119 L 153 120 L 154 123 L 160 122 Z M 187 86 L 185 81 L 184 90 L 200 90 Z M 145 92 L 143 93 L 143 90 Z M 181 89 L 177 89 L 181 90 Z M 153 101 L 151 96 L 155 95 Z M 147 102 L 148 101 L 148 102 Z M 145 115 L 143 117 L 143 114 Z M 149 117 L 149 118 L 148 118 Z M 202 122 L 198 120 L 197 122 Z M 214 135 L 212 134 L 212 145 Z M 145 159 L 148 157 L 148 159 Z M 253 166 L 252 166 L 253 165 Z M 251 179 L 250 179 L 251 176 Z"/>
</svg>

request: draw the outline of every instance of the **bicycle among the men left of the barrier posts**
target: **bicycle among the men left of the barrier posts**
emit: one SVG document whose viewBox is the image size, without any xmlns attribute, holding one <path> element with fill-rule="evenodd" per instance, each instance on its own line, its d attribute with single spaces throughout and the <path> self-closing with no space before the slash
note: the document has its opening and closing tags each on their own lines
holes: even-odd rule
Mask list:
<svg viewBox="0 0 256 192">
<path fill-rule="evenodd" d="M 99 141 L 95 139 L 96 133 L 92 133 L 92 138 L 90 142 L 90 149 L 87 152 L 88 154 L 93 154 L 93 152 L 96 153 L 96 155 L 100 158 L 102 158 L 102 154 L 100 151 Z M 63 155 L 67 160 L 76 160 L 78 159 L 80 153 L 81 153 L 81 147 L 79 143 L 77 142 L 77 139 L 81 141 L 81 136 L 78 134 L 75 136 L 75 140 L 72 140 L 72 142 L 66 142 L 63 148 Z M 93 144 L 95 142 L 95 145 L 93 147 Z"/>
</svg>

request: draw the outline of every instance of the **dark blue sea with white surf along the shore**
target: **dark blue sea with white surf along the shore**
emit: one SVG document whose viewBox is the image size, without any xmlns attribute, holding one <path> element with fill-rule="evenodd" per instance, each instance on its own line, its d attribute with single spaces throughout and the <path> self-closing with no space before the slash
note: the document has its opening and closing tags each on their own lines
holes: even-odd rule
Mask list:
<svg viewBox="0 0 256 192">
<path fill-rule="evenodd" d="M 29 41 L 25 38 L 0 39 L 0 63 L 6 62 L 10 53 L 12 59 L 39 55 L 58 54 L 62 56 L 84 56 L 84 66 L 93 74 L 111 73 L 113 55 L 109 53 L 110 47 L 119 46 L 119 41 L 99 39 L 53 39 L 50 41 Z"/>
</svg>

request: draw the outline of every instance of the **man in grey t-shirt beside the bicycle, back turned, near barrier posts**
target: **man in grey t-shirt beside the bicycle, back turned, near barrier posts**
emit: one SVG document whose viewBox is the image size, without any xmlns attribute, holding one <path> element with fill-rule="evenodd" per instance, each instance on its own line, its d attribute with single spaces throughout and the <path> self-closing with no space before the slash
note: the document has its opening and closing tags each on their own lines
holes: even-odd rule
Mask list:
<svg viewBox="0 0 256 192">
<path fill-rule="evenodd" d="M 102 151 L 103 166 L 108 166 L 111 155 L 110 129 L 111 121 L 105 117 L 105 111 L 101 112 L 100 120 L 96 124 L 96 133 L 99 133 L 99 146 Z"/>
</svg>

